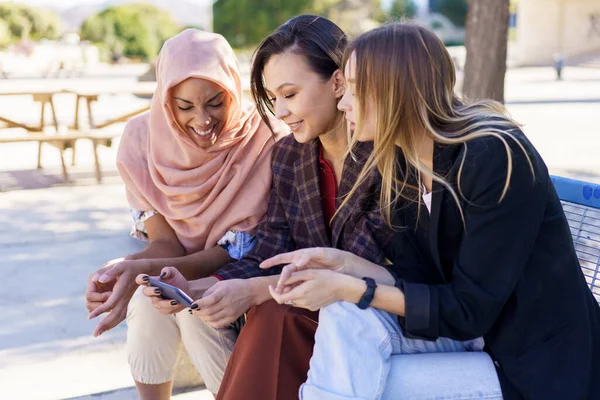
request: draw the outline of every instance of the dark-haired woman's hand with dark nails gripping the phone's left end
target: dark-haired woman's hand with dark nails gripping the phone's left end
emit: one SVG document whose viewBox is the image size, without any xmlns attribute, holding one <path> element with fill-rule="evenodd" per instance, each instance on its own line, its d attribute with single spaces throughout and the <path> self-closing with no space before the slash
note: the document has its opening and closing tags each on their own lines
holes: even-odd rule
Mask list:
<svg viewBox="0 0 600 400">
<path fill-rule="evenodd" d="M 135 282 L 140 286 L 146 286 L 142 290 L 142 293 L 152 300 L 152 305 L 156 308 L 156 311 L 164 315 L 169 315 L 176 314 L 186 308 L 175 300 L 167 300 L 161 297 L 160 289 L 150 286 L 148 284 L 148 278 L 150 277 L 147 274 L 140 274 L 135 278 Z M 175 267 L 165 267 L 162 269 L 160 276 L 153 278 L 168 285 L 175 286 L 188 295 L 190 294 L 190 286 L 187 279 L 185 279 L 181 272 Z"/>
</svg>

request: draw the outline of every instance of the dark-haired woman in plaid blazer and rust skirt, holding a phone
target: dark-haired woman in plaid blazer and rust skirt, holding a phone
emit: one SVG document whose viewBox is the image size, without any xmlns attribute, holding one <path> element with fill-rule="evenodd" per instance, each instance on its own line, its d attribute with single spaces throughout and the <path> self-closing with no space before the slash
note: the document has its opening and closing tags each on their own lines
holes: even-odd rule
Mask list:
<svg viewBox="0 0 600 400">
<path fill-rule="evenodd" d="M 273 301 L 268 287 L 277 283 L 278 276 L 273 276 L 277 270 L 261 270 L 263 260 L 327 246 L 383 261 L 375 237 L 389 236 L 390 230 L 375 202 L 363 196 L 377 193 L 376 171 L 354 197 L 361 205 L 353 204 L 365 212 L 353 214 L 346 207 L 333 218 L 372 149 L 370 144 L 358 144 L 352 157 L 345 156 L 348 133 L 337 103 L 345 91 L 340 68 L 346 44 L 338 26 L 310 15 L 292 18 L 261 43 L 251 82 L 257 109 L 266 123 L 274 114 L 292 135 L 279 140 L 273 150 L 269 207 L 257 228 L 256 245 L 209 278 L 187 282 L 174 268 L 163 271 L 165 279 L 199 299 L 193 314 L 214 328 L 228 326 L 248 312 L 219 399 L 293 399 L 306 380 L 318 314 Z M 138 277 L 138 282 L 142 279 Z M 154 297 L 163 312 L 174 308 L 153 288 L 144 293 Z"/>
</svg>

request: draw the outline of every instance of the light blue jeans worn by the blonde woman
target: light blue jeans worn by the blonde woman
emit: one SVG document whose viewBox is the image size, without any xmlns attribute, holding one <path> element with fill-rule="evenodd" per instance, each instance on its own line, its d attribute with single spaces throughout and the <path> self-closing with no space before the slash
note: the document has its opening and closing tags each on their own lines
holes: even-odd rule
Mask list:
<svg viewBox="0 0 600 400">
<path fill-rule="evenodd" d="M 321 309 L 315 340 L 303 400 L 502 399 L 480 339 L 409 339 L 396 316 L 336 302 Z"/>
</svg>

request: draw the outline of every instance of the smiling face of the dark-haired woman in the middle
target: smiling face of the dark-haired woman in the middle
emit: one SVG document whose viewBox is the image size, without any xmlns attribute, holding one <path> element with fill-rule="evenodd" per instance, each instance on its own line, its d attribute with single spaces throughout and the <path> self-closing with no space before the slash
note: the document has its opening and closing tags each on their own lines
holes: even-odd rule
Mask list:
<svg viewBox="0 0 600 400">
<path fill-rule="evenodd" d="M 269 59 L 263 76 L 275 117 L 289 126 L 299 143 L 328 133 L 335 124 L 341 71 L 324 80 L 304 56 L 285 52 Z"/>
</svg>

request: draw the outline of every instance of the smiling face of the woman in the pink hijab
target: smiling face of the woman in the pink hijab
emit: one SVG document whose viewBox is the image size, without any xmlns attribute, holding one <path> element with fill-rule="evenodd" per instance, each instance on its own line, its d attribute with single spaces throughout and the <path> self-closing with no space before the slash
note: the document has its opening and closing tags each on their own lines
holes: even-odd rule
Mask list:
<svg viewBox="0 0 600 400">
<path fill-rule="evenodd" d="M 201 148 L 215 144 L 227 123 L 231 98 L 212 81 L 188 78 L 171 91 L 171 110 L 175 121 Z"/>
</svg>

